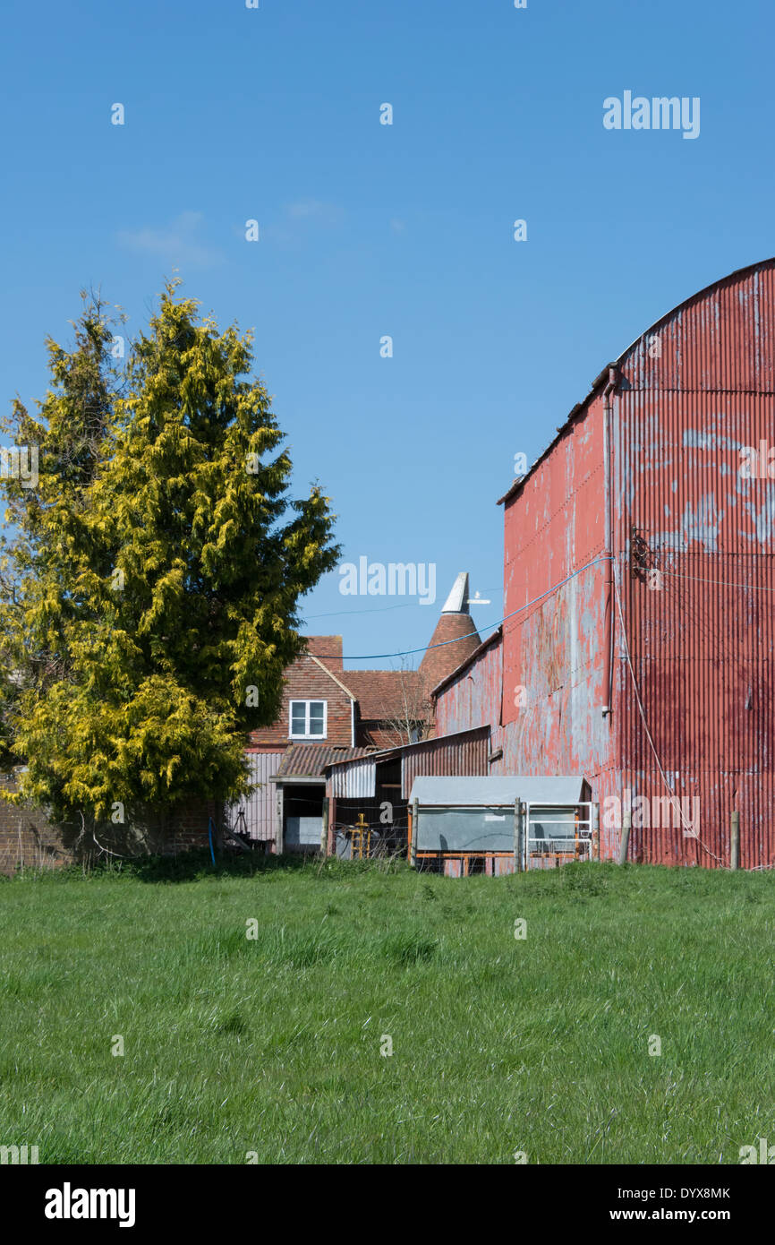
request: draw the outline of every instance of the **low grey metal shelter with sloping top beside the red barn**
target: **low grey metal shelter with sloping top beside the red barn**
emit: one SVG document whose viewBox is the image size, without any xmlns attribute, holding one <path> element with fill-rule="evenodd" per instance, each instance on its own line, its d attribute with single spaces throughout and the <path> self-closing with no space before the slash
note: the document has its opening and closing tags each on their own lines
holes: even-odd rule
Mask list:
<svg viewBox="0 0 775 1245">
<path fill-rule="evenodd" d="M 409 857 L 454 876 L 590 860 L 596 809 L 578 776 L 415 778 Z"/>
</svg>

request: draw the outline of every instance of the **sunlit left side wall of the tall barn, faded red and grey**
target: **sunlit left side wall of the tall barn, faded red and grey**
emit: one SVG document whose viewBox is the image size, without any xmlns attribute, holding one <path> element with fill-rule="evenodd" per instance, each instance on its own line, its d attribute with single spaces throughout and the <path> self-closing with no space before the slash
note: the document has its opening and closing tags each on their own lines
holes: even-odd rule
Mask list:
<svg viewBox="0 0 775 1245">
<path fill-rule="evenodd" d="M 605 608 L 602 397 L 568 425 L 505 505 L 503 773 L 616 764 L 602 708 Z M 586 568 L 586 569 L 583 569 Z M 595 786 L 595 782 L 593 782 Z"/>
</svg>

